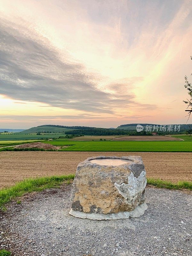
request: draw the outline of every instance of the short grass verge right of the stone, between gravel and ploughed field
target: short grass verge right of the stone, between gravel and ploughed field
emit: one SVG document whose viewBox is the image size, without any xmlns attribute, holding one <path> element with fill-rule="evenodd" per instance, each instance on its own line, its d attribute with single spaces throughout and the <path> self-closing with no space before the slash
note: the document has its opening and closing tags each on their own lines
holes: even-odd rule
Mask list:
<svg viewBox="0 0 192 256">
<path fill-rule="evenodd" d="M 171 181 L 148 178 L 147 184 L 158 188 L 192 190 L 192 182 L 190 181 L 178 181 L 177 183 L 172 183 Z"/>
</svg>

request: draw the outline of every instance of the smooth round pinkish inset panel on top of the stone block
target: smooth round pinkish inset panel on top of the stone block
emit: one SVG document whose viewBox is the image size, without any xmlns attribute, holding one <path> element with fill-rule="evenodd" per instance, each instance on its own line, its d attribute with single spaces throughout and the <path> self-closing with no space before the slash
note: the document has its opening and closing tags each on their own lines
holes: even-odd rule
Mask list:
<svg viewBox="0 0 192 256">
<path fill-rule="evenodd" d="M 100 164 L 105 166 L 117 166 L 121 164 L 132 164 L 132 160 L 122 158 L 100 158 L 89 160 L 93 164 Z"/>
</svg>

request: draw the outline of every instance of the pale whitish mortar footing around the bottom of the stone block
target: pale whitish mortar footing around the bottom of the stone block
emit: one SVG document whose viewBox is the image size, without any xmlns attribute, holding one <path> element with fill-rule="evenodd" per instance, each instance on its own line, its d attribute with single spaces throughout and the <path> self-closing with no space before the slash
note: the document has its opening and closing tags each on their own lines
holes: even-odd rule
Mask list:
<svg viewBox="0 0 192 256">
<path fill-rule="evenodd" d="M 145 210 L 147 210 L 148 206 L 146 203 L 138 205 L 133 211 L 131 212 L 118 212 L 118 213 L 108 213 L 108 214 L 100 214 L 100 213 L 85 213 L 85 212 L 78 212 L 74 210 L 70 210 L 69 214 L 73 215 L 77 218 L 82 219 L 90 219 L 90 220 L 119 220 L 119 219 L 129 219 L 137 218 L 144 214 Z"/>
</svg>

